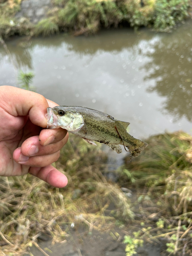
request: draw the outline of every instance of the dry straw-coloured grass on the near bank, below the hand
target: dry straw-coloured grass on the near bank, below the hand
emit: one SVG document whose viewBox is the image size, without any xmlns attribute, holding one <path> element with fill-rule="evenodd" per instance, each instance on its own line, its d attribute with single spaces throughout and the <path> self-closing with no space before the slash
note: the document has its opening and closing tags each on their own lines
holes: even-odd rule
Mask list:
<svg viewBox="0 0 192 256">
<path fill-rule="evenodd" d="M 116 218 L 132 219 L 127 197 L 101 174 L 105 161 L 99 147 L 71 136 L 56 163 L 68 177 L 66 188 L 53 188 L 30 175 L 0 177 L 0 254 L 21 255 L 32 245 L 38 247 L 42 233 L 53 242 L 63 241 L 71 223 L 104 231 L 115 225 Z M 113 215 L 105 215 L 112 202 Z"/>
</svg>

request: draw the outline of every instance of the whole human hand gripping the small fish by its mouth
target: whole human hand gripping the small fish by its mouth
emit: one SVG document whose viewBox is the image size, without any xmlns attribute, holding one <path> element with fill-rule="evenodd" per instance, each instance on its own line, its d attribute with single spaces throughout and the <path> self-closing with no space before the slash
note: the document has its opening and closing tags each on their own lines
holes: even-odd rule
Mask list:
<svg viewBox="0 0 192 256">
<path fill-rule="evenodd" d="M 0 176 L 30 173 L 55 187 L 65 187 L 67 177 L 51 163 L 68 140 L 63 129 L 47 127 L 47 108 L 57 105 L 23 89 L 0 86 Z"/>
</svg>

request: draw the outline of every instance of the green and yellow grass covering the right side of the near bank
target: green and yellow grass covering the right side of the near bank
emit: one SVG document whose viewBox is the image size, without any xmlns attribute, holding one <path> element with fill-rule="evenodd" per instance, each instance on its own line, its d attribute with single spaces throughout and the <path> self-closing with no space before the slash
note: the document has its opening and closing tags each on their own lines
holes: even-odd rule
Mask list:
<svg viewBox="0 0 192 256">
<path fill-rule="evenodd" d="M 147 148 L 135 161 L 125 159 L 122 174 L 124 186 L 130 177 L 136 180 L 132 210 L 139 239 L 164 242 L 167 252 L 188 255 L 192 248 L 192 137 L 176 132 L 152 136 L 146 142 Z M 130 246 L 133 243 L 127 244 L 129 250 Z"/>
</svg>

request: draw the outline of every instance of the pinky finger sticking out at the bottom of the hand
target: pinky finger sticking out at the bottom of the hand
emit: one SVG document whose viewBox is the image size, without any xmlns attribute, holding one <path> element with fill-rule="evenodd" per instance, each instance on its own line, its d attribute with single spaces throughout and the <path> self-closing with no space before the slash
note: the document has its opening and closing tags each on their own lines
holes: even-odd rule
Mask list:
<svg viewBox="0 0 192 256">
<path fill-rule="evenodd" d="M 30 167 L 29 173 L 54 187 L 65 187 L 68 183 L 67 177 L 52 165 L 46 167 Z"/>
</svg>

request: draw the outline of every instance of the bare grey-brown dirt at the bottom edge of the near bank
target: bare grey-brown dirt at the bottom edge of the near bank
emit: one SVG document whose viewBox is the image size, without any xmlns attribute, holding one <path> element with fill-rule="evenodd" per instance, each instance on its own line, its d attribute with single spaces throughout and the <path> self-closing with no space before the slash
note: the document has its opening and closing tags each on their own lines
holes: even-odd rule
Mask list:
<svg viewBox="0 0 192 256">
<path fill-rule="evenodd" d="M 72 237 L 63 243 L 52 245 L 52 241 L 40 242 L 39 246 L 47 255 L 54 256 L 126 256 L 123 238 L 126 231 L 116 229 L 120 234 L 115 240 L 110 232 L 101 233 L 93 230 L 92 234 L 88 231 L 74 230 Z M 162 256 L 163 247 L 159 245 L 145 244 L 138 248 L 136 256 Z M 31 248 L 34 256 L 45 256 L 35 246 Z M 26 254 L 30 256 L 30 254 Z"/>
</svg>

